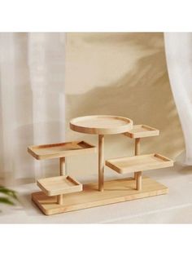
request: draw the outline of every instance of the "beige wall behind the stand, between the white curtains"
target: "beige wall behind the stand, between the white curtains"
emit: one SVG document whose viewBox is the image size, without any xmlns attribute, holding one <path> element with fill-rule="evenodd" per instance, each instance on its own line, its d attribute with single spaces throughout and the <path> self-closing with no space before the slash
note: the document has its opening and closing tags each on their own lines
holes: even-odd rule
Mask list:
<svg viewBox="0 0 192 256">
<path fill-rule="evenodd" d="M 142 153 L 173 158 L 181 153 L 184 141 L 168 82 L 163 33 L 67 34 L 67 140 L 97 144 L 96 135 L 79 134 L 68 126 L 72 117 L 92 114 L 120 115 L 158 128 L 159 137 L 143 139 Z M 123 135 L 106 136 L 105 146 L 106 158 L 133 154 L 133 140 Z M 72 157 L 68 168 L 72 174 L 96 178 L 97 157 Z"/>
</svg>

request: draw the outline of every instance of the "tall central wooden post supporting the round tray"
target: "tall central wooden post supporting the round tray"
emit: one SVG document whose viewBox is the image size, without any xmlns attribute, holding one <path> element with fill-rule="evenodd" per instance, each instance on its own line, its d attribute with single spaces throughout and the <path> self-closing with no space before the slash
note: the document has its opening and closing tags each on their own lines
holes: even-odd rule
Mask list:
<svg viewBox="0 0 192 256">
<path fill-rule="evenodd" d="M 98 190 L 103 191 L 104 183 L 104 135 L 98 135 Z"/>
</svg>

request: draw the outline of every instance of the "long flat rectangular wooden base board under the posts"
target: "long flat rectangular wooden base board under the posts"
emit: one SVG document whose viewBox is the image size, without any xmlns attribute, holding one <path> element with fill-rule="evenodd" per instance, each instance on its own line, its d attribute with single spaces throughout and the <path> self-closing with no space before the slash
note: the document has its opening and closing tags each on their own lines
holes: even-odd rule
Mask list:
<svg viewBox="0 0 192 256">
<path fill-rule="evenodd" d="M 135 188 L 133 178 L 116 179 L 106 181 L 103 192 L 98 191 L 98 183 L 85 184 L 82 192 L 63 195 L 63 205 L 57 204 L 56 196 L 46 196 L 43 192 L 33 193 L 32 200 L 43 214 L 52 215 L 168 193 L 168 188 L 149 177 L 142 178 L 142 191 Z"/>
</svg>

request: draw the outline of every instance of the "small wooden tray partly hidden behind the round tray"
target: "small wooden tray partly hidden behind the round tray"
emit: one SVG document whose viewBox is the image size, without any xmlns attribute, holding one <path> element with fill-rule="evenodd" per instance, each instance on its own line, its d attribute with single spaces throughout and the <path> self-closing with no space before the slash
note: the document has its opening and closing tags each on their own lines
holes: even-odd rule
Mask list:
<svg viewBox="0 0 192 256">
<path fill-rule="evenodd" d="M 151 137 L 159 135 L 159 130 L 146 125 L 136 125 L 133 126 L 132 130 L 129 130 L 124 133 L 125 136 L 129 138 L 144 138 L 144 137 Z"/>
</svg>

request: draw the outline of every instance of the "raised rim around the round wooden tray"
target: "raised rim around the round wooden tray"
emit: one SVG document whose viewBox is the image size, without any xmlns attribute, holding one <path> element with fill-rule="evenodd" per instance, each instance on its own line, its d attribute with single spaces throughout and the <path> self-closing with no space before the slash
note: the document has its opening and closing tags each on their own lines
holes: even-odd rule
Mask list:
<svg viewBox="0 0 192 256">
<path fill-rule="evenodd" d="M 83 119 L 91 119 L 91 118 L 99 118 L 99 117 L 111 117 L 114 119 L 120 119 L 124 121 L 128 121 L 127 124 L 123 126 L 117 126 L 115 128 L 103 128 L 103 127 L 86 127 L 86 126 L 79 126 L 77 121 L 81 121 Z M 85 133 L 85 134 L 92 134 L 92 135 L 112 135 L 112 134 L 122 134 L 125 131 L 128 131 L 133 128 L 133 121 L 128 117 L 120 117 L 120 116 L 111 116 L 111 115 L 91 115 L 91 116 L 83 116 L 83 117 L 75 117 L 73 118 L 70 123 L 70 128 L 77 132 Z"/>
</svg>

